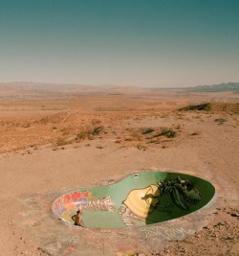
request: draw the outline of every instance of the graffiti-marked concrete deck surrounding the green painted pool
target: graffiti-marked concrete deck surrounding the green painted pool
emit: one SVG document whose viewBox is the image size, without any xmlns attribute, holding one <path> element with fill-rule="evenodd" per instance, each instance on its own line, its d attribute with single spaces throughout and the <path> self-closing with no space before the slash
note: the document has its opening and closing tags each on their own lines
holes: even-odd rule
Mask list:
<svg viewBox="0 0 239 256">
<path fill-rule="evenodd" d="M 188 176 L 192 178 L 194 175 L 193 172 L 186 172 L 185 170 L 137 170 L 125 175 L 102 179 L 97 183 L 92 184 L 92 186 L 76 188 L 70 191 L 71 193 L 76 191 L 84 191 L 86 193 L 89 189 L 94 192 L 94 190 L 100 186 L 112 187 L 114 184 L 119 184 L 120 180 L 127 180 L 127 177 L 129 176 L 130 178 L 134 178 L 134 175 L 141 175 L 141 173 L 147 172 L 152 174 L 159 171 L 163 172 L 164 175 L 169 174 L 169 177 L 172 179 L 175 175 L 179 175 L 182 179 L 183 177 Z M 155 177 L 153 177 L 153 179 L 153 181 L 156 181 Z M 213 218 L 215 208 L 223 205 L 225 201 L 223 198 L 228 198 L 231 201 L 233 201 L 233 199 L 237 200 L 237 198 L 228 197 L 230 188 L 228 184 L 224 184 L 223 180 L 215 179 L 215 177 L 208 174 L 194 177 L 194 181 L 201 179 L 206 179 L 213 184 L 216 191 L 214 197 L 209 202 L 207 200 L 201 200 L 202 204 L 206 203 L 203 208 L 198 208 L 181 218 L 176 217 L 176 219 L 173 220 L 169 219 L 170 221 L 156 221 L 155 223 L 144 225 L 122 225 L 117 226 L 117 228 L 115 228 L 116 226 L 106 226 L 104 228 L 98 226 L 87 227 L 87 225 L 85 228 L 82 228 L 73 225 L 73 222 L 70 221 L 70 219 L 69 221 L 60 220 L 52 211 L 52 207 L 54 207 L 54 203 L 58 198 L 61 198 L 62 195 L 69 195 L 69 189 L 65 189 L 60 192 L 26 195 L 25 197 L 19 198 L 19 200 L 28 207 L 27 211 L 20 213 L 19 222 L 22 227 L 27 229 L 33 235 L 34 240 L 40 244 L 39 249 L 49 255 L 132 255 L 137 251 L 141 251 L 141 253 L 150 253 L 162 249 L 171 240 L 182 240 L 187 236 L 198 232 Z M 193 183 L 195 183 L 194 181 Z M 146 183 L 142 184 L 142 187 L 144 188 L 150 184 L 153 184 L 152 180 L 147 180 Z M 200 193 L 202 193 L 203 198 L 204 193 L 201 192 L 202 187 L 198 186 L 200 184 L 197 184 L 196 182 L 194 185 Z M 130 187 L 130 190 L 131 189 L 132 187 Z M 126 191 L 125 195 L 121 195 L 121 198 L 124 198 L 125 200 L 127 198 L 125 198 L 125 196 L 129 195 L 128 192 L 129 191 Z M 71 193 L 70 195 L 73 195 Z M 168 199 L 168 195 L 165 195 L 165 197 Z M 121 198 L 119 201 L 121 201 Z M 199 205 L 190 205 L 190 207 L 192 206 L 198 207 Z M 117 207 L 119 208 L 120 204 L 118 204 Z M 179 208 L 175 205 L 173 207 Z M 87 215 L 84 211 L 86 211 L 86 209 L 83 209 L 82 211 L 82 219 L 87 224 L 89 222 L 86 221 Z M 155 210 L 152 214 L 154 212 L 155 214 L 157 213 L 157 216 L 159 214 L 167 216 L 166 212 L 163 211 L 158 212 Z M 185 210 L 182 209 L 179 212 L 185 212 Z M 118 211 L 115 213 L 118 213 Z M 94 211 L 93 214 L 96 214 L 96 212 Z M 119 218 L 119 220 L 121 219 Z M 96 223 L 98 222 L 100 221 L 96 219 Z"/>
</svg>

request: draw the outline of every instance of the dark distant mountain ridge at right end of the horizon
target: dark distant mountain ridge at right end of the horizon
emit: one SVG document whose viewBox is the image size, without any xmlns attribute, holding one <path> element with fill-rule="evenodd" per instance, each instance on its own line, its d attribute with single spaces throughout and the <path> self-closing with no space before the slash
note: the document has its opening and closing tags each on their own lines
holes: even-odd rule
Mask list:
<svg viewBox="0 0 239 256">
<path fill-rule="evenodd" d="M 234 91 L 239 93 L 239 82 L 223 82 L 220 84 L 212 85 L 198 85 L 195 87 L 185 88 L 187 91 L 194 92 L 224 92 L 224 91 Z"/>
</svg>

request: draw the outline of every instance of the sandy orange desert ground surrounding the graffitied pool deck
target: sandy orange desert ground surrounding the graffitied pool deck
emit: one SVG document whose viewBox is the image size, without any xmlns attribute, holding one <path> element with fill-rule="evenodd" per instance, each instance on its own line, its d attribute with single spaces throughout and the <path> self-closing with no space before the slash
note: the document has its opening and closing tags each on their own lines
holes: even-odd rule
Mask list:
<svg viewBox="0 0 239 256">
<path fill-rule="evenodd" d="M 201 231 L 163 251 L 152 247 L 152 255 L 239 255 L 238 94 L 129 88 L 1 93 L 0 255 L 47 255 L 19 224 L 23 195 L 149 168 L 205 173 L 222 181 L 220 189 L 229 188 Z M 177 110 L 206 102 L 211 110 Z M 145 128 L 167 128 L 176 136 L 149 140 Z"/>
</svg>

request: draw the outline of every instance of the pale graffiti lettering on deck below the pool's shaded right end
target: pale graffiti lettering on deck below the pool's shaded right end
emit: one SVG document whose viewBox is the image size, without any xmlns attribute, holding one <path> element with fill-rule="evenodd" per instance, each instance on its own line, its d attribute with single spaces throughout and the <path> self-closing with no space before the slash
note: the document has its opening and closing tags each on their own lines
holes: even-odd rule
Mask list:
<svg viewBox="0 0 239 256">
<path fill-rule="evenodd" d="M 185 230 L 184 227 L 141 227 L 139 229 L 141 232 L 141 241 L 144 240 L 181 240 L 184 239 L 186 235 L 192 235 L 195 233 L 193 229 Z"/>
</svg>

